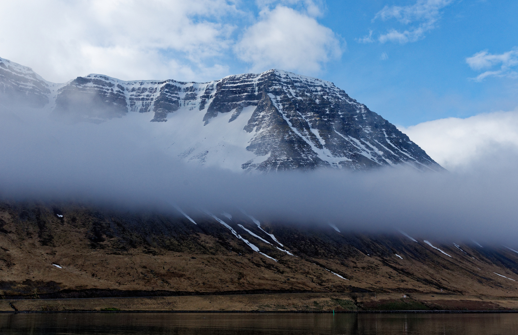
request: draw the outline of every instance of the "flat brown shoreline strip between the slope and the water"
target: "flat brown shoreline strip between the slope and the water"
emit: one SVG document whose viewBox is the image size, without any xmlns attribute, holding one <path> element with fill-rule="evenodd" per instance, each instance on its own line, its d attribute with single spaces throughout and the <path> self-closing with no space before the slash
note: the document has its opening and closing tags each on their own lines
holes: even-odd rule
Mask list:
<svg viewBox="0 0 518 335">
<path fill-rule="evenodd" d="M 397 293 L 269 293 L 0 299 L 0 312 L 516 313 L 518 297 Z"/>
</svg>

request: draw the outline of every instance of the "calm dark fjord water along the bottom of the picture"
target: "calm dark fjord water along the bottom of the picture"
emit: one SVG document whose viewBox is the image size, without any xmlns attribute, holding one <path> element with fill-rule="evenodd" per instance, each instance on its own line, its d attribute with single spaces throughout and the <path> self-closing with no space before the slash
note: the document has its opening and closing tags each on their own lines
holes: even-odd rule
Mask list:
<svg viewBox="0 0 518 335">
<path fill-rule="evenodd" d="M 2 334 L 518 333 L 518 314 L 4 313 Z"/>
</svg>

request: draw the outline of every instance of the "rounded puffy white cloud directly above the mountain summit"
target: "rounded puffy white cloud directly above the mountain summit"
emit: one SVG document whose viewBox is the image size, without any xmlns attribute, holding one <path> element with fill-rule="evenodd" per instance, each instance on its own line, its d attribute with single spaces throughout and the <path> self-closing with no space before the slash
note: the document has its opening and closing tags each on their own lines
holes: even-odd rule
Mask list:
<svg viewBox="0 0 518 335">
<path fill-rule="evenodd" d="M 306 74 L 319 72 L 341 55 L 332 30 L 308 14 L 282 5 L 263 9 L 260 20 L 244 31 L 235 50 L 253 71 L 275 67 Z"/>
</svg>

